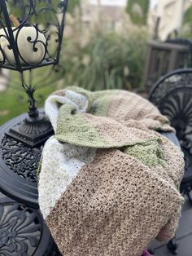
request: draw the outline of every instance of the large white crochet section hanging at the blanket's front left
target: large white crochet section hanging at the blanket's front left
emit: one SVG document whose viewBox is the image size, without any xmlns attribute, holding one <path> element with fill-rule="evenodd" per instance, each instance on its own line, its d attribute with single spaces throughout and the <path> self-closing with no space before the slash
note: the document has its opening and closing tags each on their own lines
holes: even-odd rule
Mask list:
<svg viewBox="0 0 192 256">
<path fill-rule="evenodd" d="M 38 184 L 39 205 L 44 218 L 72 183 L 81 167 L 94 160 L 95 154 L 96 148 L 59 143 L 54 137 L 46 142 L 42 152 L 45 161 L 42 161 Z"/>
</svg>

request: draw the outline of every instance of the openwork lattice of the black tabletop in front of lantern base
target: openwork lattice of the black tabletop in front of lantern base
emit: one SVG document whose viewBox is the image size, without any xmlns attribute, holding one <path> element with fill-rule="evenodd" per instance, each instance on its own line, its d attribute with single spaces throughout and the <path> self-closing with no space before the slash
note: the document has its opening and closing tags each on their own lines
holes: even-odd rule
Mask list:
<svg viewBox="0 0 192 256">
<path fill-rule="evenodd" d="M 0 147 L 3 161 L 15 174 L 36 182 L 36 172 L 43 146 L 31 148 L 5 135 Z"/>
</svg>

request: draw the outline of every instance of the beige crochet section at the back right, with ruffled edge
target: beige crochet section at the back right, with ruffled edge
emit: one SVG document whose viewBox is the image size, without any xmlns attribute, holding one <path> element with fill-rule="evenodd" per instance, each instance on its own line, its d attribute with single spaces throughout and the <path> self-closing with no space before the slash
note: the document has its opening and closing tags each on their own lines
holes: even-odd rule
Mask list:
<svg viewBox="0 0 192 256">
<path fill-rule="evenodd" d="M 141 130 L 168 130 L 170 127 L 167 117 L 159 113 L 148 100 L 129 91 L 119 91 L 116 98 L 111 100 L 107 117 L 119 121 L 124 126 L 135 127 Z"/>
</svg>

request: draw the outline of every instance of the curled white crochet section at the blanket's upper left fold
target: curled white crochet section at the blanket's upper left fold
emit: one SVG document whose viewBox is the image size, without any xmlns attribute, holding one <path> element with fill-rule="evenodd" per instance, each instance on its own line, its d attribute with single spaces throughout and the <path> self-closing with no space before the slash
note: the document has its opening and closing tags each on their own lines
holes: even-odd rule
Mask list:
<svg viewBox="0 0 192 256">
<path fill-rule="evenodd" d="M 67 90 L 64 96 L 50 95 L 46 99 L 45 111 L 55 131 L 57 130 L 59 107 L 63 104 L 72 104 L 76 108 L 76 113 L 85 113 L 88 100 L 84 95 L 77 94 L 72 90 Z"/>
</svg>

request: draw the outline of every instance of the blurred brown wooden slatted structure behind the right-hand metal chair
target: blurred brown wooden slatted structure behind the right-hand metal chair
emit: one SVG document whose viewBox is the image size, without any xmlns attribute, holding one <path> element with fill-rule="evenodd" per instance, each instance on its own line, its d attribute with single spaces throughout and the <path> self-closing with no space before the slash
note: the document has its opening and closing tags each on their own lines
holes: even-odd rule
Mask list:
<svg viewBox="0 0 192 256">
<path fill-rule="evenodd" d="M 143 73 L 143 85 L 146 90 L 151 90 L 151 86 L 160 76 L 177 68 L 190 68 L 190 45 L 179 42 L 156 42 L 147 44 L 146 65 Z"/>
</svg>

